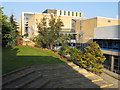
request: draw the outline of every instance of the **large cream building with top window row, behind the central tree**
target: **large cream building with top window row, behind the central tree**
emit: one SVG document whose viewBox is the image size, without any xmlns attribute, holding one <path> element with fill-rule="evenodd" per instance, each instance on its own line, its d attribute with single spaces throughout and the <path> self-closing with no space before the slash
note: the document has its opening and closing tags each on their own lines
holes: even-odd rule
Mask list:
<svg viewBox="0 0 120 90">
<path fill-rule="evenodd" d="M 83 20 L 84 15 L 81 12 L 72 12 L 64 10 L 47 9 L 42 13 L 23 12 L 19 20 L 19 31 L 22 36 L 32 38 L 38 34 L 37 21 L 40 21 L 44 16 L 47 18 L 47 22 L 51 18 L 51 14 L 55 14 L 56 18 L 60 16 L 64 26 L 60 33 L 72 35 L 72 43 L 76 43 L 76 36 L 80 36 L 79 32 L 75 31 L 75 23 Z M 48 23 L 47 23 L 48 25 Z M 49 27 L 49 25 L 48 25 Z M 79 37 L 77 37 L 79 38 Z"/>
</svg>

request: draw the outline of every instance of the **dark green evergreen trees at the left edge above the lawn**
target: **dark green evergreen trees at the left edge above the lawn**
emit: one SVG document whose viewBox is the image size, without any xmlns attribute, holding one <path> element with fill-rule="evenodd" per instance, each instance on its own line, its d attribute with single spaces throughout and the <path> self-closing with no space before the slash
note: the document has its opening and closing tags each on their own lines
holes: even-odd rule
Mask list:
<svg viewBox="0 0 120 90">
<path fill-rule="evenodd" d="M 3 47 L 13 47 L 16 45 L 17 36 L 17 25 L 12 14 L 10 19 L 4 15 L 2 11 L 3 7 L 0 8 L 0 20 L 1 20 L 1 30 L 2 30 L 2 46 Z"/>
</svg>

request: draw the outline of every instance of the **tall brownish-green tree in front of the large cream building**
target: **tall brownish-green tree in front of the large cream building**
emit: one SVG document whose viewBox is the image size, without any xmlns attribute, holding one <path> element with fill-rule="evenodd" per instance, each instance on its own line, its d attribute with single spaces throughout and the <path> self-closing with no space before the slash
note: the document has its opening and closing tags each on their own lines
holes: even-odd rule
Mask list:
<svg viewBox="0 0 120 90">
<path fill-rule="evenodd" d="M 49 49 L 53 49 L 55 45 L 61 41 L 62 35 L 59 33 L 61 31 L 61 27 L 63 26 L 63 22 L 60 17 L 56 17 L 55 15 L 51 15 L 51 18 L 48 22 L 49 27 L 47 26 L 47 18 L 44 16 L 40 22 L 37 21 L 38 35 L 33 38 L 33 41 L 37 44 L 37 46 L 44 46 Z M 62 38 L 63 39 L 63 38 Z"/>
</svg>

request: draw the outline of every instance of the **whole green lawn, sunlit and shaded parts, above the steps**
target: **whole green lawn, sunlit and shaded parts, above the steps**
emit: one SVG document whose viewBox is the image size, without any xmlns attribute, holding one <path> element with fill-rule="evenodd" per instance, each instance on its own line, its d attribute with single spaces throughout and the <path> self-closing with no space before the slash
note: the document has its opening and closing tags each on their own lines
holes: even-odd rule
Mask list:
<svg viewBox="0 0 120 90">
<path fill-rule="evenodd" d="M 58 58 L 53 53 L 27 46 L 3 48 L 2 50 L 3 74 L 26 66 L 65 62 L 66 61 Z"/>
</svg>

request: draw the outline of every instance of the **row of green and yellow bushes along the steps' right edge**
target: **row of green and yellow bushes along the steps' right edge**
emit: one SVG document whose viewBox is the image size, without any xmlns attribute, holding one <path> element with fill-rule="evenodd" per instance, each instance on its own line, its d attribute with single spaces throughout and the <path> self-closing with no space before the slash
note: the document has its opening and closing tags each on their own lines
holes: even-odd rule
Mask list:
<svg viewBox="0 0 120 90">
<path fill-rule="evenodd" d="M 102 63 L 106 59 L 96 42 L 93 42 L 90 46 L 84 48 L 83 52 L 75 47 L 66 47 L 66 45 L 63 45 L 59 54 L 69 54 L 70 59 L 77 63 L 77 65 L 96 74 L 102 73 Z"/>
</svg>

